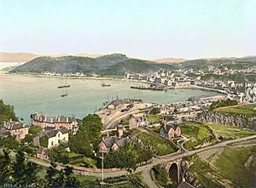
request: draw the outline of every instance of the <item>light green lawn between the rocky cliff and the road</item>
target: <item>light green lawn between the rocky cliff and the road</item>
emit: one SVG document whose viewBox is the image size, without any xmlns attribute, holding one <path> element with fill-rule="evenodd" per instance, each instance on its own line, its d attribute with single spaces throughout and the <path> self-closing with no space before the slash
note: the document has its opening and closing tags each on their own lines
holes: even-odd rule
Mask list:
<svg viewBox="0 0 256 188">
<path fill-rule="evenodd" d="M 247 130 L 244 128 L 237 128 L 210 123 L 208 124 L 208 126 L 211 127 L 218 134 L 218 136 L 223 136 L 225 139 L 237 139 L 256 134 L 256 131 Z"/>
</svg>

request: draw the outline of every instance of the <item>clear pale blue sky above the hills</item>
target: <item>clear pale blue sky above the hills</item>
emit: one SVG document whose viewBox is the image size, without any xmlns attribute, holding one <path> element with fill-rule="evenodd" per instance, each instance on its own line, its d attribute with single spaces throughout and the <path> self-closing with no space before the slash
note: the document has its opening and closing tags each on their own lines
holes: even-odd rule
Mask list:
<svg viewBox="0 0 256 188">
<path fill-rule="evenodd" d="M 256 54 L 256 0 L 0 0 L 0 52 Z"/>
</svg>

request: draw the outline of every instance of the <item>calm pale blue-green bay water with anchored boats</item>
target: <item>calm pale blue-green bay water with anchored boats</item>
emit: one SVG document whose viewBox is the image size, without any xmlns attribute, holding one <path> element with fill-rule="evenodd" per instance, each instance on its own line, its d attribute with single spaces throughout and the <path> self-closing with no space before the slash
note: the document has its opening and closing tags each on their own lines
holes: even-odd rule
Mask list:
<svg viewBox="0 0 256 188">
<path fill-rule="evenodd" d="M 190 96 L 215 94 L 192 89 L 173 89 L 167 92 L 137 90 L 130 86 L 139 83 L 114 80 L 104 81 L 111 84 L 111 87 L 103 88 L 101 80 L 67 79 L 71 88 L 67 88 L 67 97 L 61 98 L 64 91 L 57 87 L 64 83 L 64 78 L 4 74 L 0 71 L 0 99 L 14 105 L 17 116 L 29 122 L 30 114 L 37 111 L 52 116 L 61 114 L 82 118 L 96 111 L 103 102 L 117 96 L 163 104 L 187 100 Z"/>
</svg>

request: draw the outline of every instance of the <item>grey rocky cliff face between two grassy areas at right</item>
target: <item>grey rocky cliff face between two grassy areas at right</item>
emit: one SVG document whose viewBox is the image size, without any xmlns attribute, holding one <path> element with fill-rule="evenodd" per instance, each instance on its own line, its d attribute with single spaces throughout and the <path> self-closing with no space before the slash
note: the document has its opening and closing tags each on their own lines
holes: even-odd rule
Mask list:
<svg viewBox="0 0 256 188">
<path fill-rule="evenodd" d="M 256 129 L 255 118 L 245 115 L 224 114 L 216 111 L 204 111 L 195 118 L 198 122 L 212 122 L 221 125 L 230 125 L 240 128 Z"/>
</svg>

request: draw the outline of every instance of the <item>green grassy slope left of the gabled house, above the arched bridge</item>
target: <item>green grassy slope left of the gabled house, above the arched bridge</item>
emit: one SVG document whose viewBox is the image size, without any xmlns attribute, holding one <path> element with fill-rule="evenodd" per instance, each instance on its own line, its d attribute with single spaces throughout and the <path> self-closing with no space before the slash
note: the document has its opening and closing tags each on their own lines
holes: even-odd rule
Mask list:
<svg viewBox="0 0 256 188">
<path fill-rule="evenodd" d="M 160 135 L 149 134 L 140 130 L 133 130 L 133 133 L 137 134 L 143 141 L 143 144 L 151 145 L 158 156 L 165 156 L 177 151 L 170 141 L 162 138 Z"/>
</svg>

